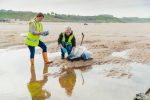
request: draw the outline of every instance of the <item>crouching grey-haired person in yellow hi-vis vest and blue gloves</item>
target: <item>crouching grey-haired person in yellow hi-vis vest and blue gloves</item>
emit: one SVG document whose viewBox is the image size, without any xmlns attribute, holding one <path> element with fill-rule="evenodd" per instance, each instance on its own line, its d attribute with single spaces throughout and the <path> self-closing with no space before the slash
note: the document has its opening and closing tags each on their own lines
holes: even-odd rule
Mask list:
<svg viewBox="0 0 150 100">
<path fill-rule="evenodd" d="M 64 32 L 61 32 L 58 38 L 58 45 L 61 48 L 61 58 L 65 58 L 65 54 L 73 55 L 76 47 L 76 39 L 71 27 L 66 27 Z"/>
</svg>

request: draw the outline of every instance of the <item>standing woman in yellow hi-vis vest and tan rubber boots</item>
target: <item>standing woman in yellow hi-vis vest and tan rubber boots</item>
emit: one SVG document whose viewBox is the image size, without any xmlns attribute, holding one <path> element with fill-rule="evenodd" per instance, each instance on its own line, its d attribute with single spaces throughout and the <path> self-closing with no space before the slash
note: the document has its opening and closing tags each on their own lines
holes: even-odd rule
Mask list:
<svg viewBox="0 0 150 100">
<path fill-rule="evenodd" d="M 44 63 L 45 64 L 52 63 L 52 61 L 49 61 L 47 57 L 47 46 L 40 39 L 40 36 L 47 36 L 49 34 L 48 31 L 43 31 L 43 26 L 40 23 L 43 20 L 43 18 L 44 14 L 38 13 L 35 17 L 35 20 L 29 23 L 29 32 L 25 40 L 25 44 L 28 46 L 30 50 L 31 65 L 34 65 L 34 55 L 36 46 L 41 47 L 43 50 Z"/>
</svg>

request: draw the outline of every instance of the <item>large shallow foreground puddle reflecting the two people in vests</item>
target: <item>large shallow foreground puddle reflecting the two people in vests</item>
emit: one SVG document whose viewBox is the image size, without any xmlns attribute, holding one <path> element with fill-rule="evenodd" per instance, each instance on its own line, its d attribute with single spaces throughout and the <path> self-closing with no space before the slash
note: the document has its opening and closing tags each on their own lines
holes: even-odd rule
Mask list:
<svg viewBox="0 0 150 100">
<path fill-rule="evenodd" d="M 150 66 L 145 64 L 63 70 L 44 65 L 41 55 L 36 55 L 35 66 L 31 67 L 28 57 L 28 49 L 0 52 L 2 100 L 133 100 L 136 93 L 150 87 Z M 60 56 L 53 53 L 49 57 Z"/>
</svg>

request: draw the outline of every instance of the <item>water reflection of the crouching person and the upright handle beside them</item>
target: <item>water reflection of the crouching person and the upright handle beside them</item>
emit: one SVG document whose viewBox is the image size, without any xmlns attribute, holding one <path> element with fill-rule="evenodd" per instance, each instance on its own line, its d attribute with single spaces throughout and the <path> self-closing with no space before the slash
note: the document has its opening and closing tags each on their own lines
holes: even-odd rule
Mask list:
<svg viewBox="0 0 150 100">
<path fill-rule="evenodd" d="M 55 78 L 57 77 L 61 88 L 65 90 L 68 96 L 72 96 L 77 80 L 75 70 L 79 70 L 80 76 L 82 78 L 82 85 L 84 85 L 84 77 L 82 73 L 88 72 L 90 69 L 92 69 L 91 66 L 81 68 L 61 67 L 59 72 L 47 73 L 45 75 L 53 76 Z"/>
</svg>

